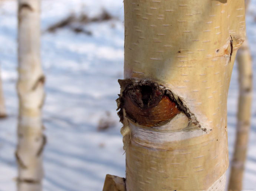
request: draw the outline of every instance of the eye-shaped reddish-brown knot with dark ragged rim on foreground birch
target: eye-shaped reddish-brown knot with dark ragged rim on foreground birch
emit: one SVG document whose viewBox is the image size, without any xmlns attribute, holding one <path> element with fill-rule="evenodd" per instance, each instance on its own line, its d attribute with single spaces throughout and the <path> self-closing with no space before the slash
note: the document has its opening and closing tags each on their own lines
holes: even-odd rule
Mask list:
<svg viewBox="0 0 256 191">
<path fill-rule="evenodd" d="M 165 88 L 152 81 L 136 81 L 135 79 L 118 80 L 121 95 L 118 102 L 118 115 L 123 121 L 123 109 L 126 116 L 142 126 L 163 126 L 175 115 L 183 112 L 194 125 L 199 125 L 194 114 L 184 105 L 183 101 Z"/>
</svg>

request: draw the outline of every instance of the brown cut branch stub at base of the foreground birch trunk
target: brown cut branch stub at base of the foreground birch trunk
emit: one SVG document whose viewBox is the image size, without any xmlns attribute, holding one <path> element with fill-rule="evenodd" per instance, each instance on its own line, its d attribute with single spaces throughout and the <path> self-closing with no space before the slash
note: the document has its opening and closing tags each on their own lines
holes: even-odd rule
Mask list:
<svg viewBox="0 0 256 191">
<path fill-rule="evenodd" d="M 102 191 L 126 191 L 125 178 L 107 174 Z"/>
</svg>

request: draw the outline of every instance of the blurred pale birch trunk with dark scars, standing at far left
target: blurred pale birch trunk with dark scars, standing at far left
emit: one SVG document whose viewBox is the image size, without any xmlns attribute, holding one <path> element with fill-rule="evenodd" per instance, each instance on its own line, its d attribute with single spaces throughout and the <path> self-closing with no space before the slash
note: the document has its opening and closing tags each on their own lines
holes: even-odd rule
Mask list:
<svg viewBox="0 0 256 191">
<path fill-rule="evenodd" d="M 45 76 L 40 63 L 40 0 L 19 0 L 18 20 L 17 190 L 40 191 L 42 151 L 46 143 L 41 117 Z"/>
</svg>

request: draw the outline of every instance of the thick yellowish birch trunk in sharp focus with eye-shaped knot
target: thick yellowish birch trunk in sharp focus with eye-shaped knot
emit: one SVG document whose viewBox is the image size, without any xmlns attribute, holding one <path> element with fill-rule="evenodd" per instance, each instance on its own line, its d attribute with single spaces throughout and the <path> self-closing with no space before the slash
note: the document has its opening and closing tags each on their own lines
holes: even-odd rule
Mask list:
<svg viewBox="0 0 256 191">
<path fill-rule="evenodd" d="M 127 191 L 224 190 L 244 0 L 124 0 Z"/>
</svg>

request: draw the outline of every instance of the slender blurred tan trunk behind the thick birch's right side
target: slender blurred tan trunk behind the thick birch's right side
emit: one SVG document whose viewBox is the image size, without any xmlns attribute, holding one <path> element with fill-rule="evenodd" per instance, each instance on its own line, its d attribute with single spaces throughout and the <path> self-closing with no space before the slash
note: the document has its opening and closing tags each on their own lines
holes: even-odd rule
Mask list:
<svg viewBox="0 0 256 191">
<path fill-rule="evenodd" d="M 244 163 L 250 132 L 252 105 L 252 60 L 248 41 L 237 52 L 239 72 L 239 102 L 237 112 L 236 144 L 232 159 L 229 190 L 242 190 Z"/>
</svg>

